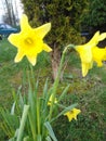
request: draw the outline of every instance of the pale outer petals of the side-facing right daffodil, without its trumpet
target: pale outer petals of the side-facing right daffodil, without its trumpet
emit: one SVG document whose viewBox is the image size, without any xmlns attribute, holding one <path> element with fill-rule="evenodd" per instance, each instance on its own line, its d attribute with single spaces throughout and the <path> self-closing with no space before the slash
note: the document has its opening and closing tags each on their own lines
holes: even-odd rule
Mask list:
<svg viewBox="0 0 106 141">
<path fill-rule="evenodd" d="M 105 38 L 106 38 L 106 33 L 100 35 L 100 31 L 96 31 L 93 38 L 88 43 L 82 46 L 76 46 L 75 49 L 78 51 L 81 59 L 83 77 L 88 74 L 89 69 L 91 69 L 93 66 L 93 60 L 95 60 L 95 55 L 96 55 L 95 49 L 93 48 L 96 47 L 98 41 Z M 93 59 L 93 54 L 94 54 L 94 59 Z"/>
</svg>

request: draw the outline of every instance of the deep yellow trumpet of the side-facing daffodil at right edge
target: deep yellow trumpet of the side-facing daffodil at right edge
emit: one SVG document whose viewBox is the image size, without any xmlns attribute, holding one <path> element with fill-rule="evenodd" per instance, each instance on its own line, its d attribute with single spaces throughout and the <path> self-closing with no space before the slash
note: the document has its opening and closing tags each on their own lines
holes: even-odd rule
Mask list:
<svg viewBox="0 0 106 141">
<path fill-rule="evenodd" d="M 97 63 L 97 66 L 103 66 L 103 61 L 106 61 L 106 48 L 92 48 L 93 61 Z"/>
</svg>

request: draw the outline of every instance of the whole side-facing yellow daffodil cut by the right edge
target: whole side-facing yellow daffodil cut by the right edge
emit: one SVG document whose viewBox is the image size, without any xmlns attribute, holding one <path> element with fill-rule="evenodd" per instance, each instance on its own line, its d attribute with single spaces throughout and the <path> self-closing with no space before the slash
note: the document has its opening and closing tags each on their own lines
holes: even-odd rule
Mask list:
<svg viewBox="0 0 106 141">
<path fill-rule="evenodd" d="M 106 48 L 98 48 L 97 43 L 106 38 L 106 33 L 100 34 L 96 31 L 92 39 L 81 46 L 76 46 L 76 51 L 78 51 L 81 65 L 82 65 L 82 76 L 87 76 L 89 69 L 92 68 L 93 62 L 97 63 L 97 66 L 103 65 L 103 61 L 106 61 Z"/>
</svg>

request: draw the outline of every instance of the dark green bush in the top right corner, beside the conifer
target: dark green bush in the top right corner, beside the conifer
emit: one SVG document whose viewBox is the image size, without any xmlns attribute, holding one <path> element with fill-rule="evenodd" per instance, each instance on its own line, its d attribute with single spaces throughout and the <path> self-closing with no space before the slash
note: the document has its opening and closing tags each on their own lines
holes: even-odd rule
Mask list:
<svg viewBox="0 0 106 141">
<path fill-rule="evenodd" d="M 82 16 L 84 29 L 89 30 L 91 34 L 95 30 L 106 31 L 105 5 L 105 0 L 88 0 L 88 9 Z"/>
</svg>

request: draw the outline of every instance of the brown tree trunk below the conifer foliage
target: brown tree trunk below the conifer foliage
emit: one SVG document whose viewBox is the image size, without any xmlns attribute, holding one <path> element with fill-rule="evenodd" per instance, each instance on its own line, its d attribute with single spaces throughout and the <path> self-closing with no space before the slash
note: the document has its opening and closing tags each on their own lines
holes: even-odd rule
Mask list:
<svg viewBox="0 0 106 141">
<path fill-rule="evenodd" d="M 53 51 L 51 52 L 51 60 L 53 80 L 55 80 L 61 62 L 61 51 L 57 47 L 54 47 Z"/>
</svg>

